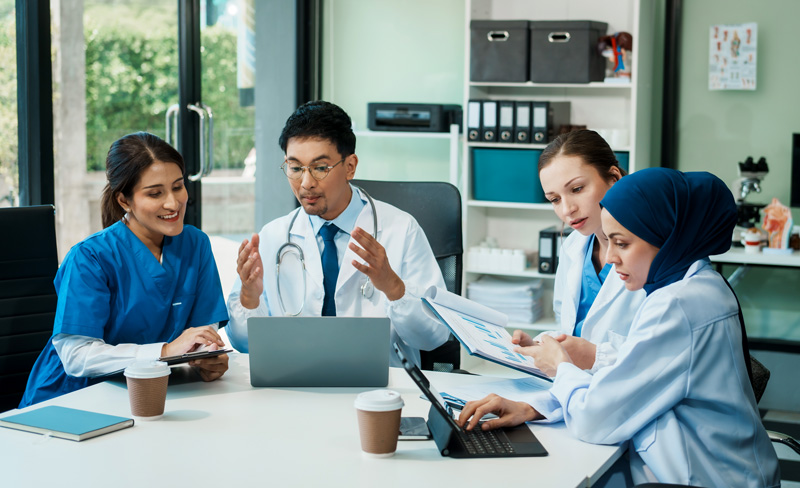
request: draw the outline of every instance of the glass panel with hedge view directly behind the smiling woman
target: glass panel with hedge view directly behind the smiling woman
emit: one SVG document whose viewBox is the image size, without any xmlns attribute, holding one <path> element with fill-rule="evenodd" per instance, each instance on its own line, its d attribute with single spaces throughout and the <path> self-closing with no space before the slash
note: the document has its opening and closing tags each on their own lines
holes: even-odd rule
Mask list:
<svg viewBox="0 0 800 488">
<path fill-rule="evenodd" d="M 167 107 L 178 100 L 178 11 L 175 0 L 51 5 L 56 215 L 63 257 L 102 228 L 100 197 L 111 143 L 137 131 L 165 137 Z"/>
</svg>

